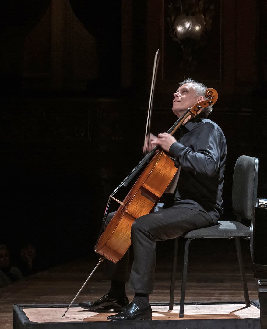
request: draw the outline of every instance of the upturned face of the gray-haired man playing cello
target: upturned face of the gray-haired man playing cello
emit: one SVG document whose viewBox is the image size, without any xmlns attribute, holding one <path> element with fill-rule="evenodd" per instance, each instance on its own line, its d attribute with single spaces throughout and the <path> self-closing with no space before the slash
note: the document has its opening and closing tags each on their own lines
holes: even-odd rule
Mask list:
<svg viewBox="0 0 267 329">
<path fill-rule="evenodd" d="M 194 104 L 204 100 L 204 96 L 196 96 L 196 90 L 194 85 L 191 83 L 186 83 L 182 85 L 174 94 L 173 94 L 173 113 L 178 117 L 181 117 L 184 112 L 192 107 Z"/>
</svg>

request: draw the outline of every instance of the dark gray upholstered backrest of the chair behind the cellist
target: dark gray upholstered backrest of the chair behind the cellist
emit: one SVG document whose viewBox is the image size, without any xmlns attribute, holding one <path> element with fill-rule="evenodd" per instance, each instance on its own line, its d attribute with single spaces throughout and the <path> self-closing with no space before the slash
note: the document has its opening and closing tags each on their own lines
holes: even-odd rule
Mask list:
<svg viewBox="0 0 267 329">
<path fill-rule="evenodd" d="M 257 198 L 259 160 L 241 155 L 234 166 L 232 207 L 240 219 L 251 220 Z"/>
</svg>

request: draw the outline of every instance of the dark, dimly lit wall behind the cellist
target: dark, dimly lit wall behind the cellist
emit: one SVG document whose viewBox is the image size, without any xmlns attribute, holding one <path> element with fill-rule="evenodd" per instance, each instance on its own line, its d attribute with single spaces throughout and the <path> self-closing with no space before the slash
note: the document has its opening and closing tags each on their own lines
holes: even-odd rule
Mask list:
<svg viewBox="0 0 267 329">
<path fill-rule="evenodd" d="M 93 255 L 109 194 L 142 158 L 158 48 L 152 132 L 173 124 L 184 77 L 215 88 L 210 119 L 228 146 L 224 216 L 242 154 L 259 158 L 258 195 L 267 196 L 266 3 L 182 0 L 206 24 L 200 38 L 182 41 L 170 29 L 171 3 L 180 10 L 167 0 L 1 5 L 0 243 L 14 252 L 33 243 L 39 268 Z"/>
</svg>

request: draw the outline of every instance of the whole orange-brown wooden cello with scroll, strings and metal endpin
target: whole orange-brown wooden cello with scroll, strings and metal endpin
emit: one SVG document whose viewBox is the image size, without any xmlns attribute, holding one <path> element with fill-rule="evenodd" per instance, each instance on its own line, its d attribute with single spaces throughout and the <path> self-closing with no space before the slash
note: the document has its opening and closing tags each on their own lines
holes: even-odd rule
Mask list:
<svg viewBox="0 0 267 329">
<path fill-rule="evenodd" d="M 187 109 L 167 133 L 173 135 L 183 124 L 185 119 L 190 116 L 194 117 L 201 112 L 201 109 L 214 104 L 218 99 L 218 93 L 215 89 L 208 88 L 205 91 L 205 98 L 204 101 L 198 102 L 192 108 Z M 138 177 L 124 200 L 121 202 L 114 198 L 113 195 L 116 191 L 123 185 L 127 186 L 133 177 L 136 176 L 137 172 L 139 172 L 144 166 L 145 168 L 143 172 Z M 66 314 L 67 310 L 82 291 L 91 275 L 104 259 L 117 263 L 123 257 L 131 245 L 131 226 L 135 219 L 153 212 L 160 197 L 167 189 L 178 170 L 179 168 L 175 166 L 174 159 L 172 159 L 167 153 L 159 150 L 159 147 L 156 146 L 144 156 L 141 162 L 137 164 L 134 170 L 109 196 L 104 220 L 108 215 L 108 208 L 111 199 L 119 202 L 120 206 L 95 245 L 94 251 L 101 255 L 101 258 L 62 316 Z"/>
</svg>

